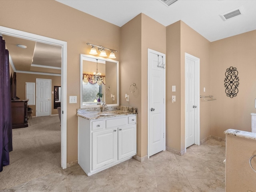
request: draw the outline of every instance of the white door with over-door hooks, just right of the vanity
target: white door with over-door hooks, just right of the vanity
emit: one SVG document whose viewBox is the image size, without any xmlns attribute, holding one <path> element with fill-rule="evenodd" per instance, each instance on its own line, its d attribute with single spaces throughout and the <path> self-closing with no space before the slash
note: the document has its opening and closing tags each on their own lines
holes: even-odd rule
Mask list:
<svg viewBox="0 0 256 192">
<path fill-rule="evenodd" d="M 148 157 L 165 150 L 165 54 L 148 50 Z"/>
</svg>

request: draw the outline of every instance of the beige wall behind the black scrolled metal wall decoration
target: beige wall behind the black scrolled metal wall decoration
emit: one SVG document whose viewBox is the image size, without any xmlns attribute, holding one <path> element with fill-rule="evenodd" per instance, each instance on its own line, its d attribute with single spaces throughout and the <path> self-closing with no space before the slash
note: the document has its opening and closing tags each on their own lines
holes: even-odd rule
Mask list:
<svg viewBox="0 0 256 192">
<path fill-rule="evenodd" d="M 256 30 L 211 43 L 211 134 L 224 138 L 227 129 L 251 131 L 256 98 Z M 227 68 L 238 70 L 237 96 L 226 96 Z"/>
</svg>

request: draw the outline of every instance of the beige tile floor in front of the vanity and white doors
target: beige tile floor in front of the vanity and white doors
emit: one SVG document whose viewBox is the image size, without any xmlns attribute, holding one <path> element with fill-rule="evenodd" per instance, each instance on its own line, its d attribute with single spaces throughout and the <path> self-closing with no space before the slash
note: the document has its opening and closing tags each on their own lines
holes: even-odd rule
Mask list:
<svg viewBox="0 0 256 192">
<path fill-rule="evenodd" d="M 3 192 L 225 192 L 225 142 L 213 138 L 183 156 L 163 151 L 130 159 L 92 176 L 79 165 Z"/>
</svg>

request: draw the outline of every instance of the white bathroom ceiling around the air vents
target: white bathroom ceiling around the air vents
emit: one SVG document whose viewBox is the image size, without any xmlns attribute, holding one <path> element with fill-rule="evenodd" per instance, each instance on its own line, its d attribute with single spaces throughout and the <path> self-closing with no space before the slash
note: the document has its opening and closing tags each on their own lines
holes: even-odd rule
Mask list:
<svg viewBox="0 0 256 192">
<path fill-rule="evenodd" d="M 256 0 L 56 0 L 117 26 L 140 13 L 168 26 L 182 20 L 210 42 L 256 30 Z M 245 13 L 223 21 L 220 14 L 243 6 Z"/>
</svg>

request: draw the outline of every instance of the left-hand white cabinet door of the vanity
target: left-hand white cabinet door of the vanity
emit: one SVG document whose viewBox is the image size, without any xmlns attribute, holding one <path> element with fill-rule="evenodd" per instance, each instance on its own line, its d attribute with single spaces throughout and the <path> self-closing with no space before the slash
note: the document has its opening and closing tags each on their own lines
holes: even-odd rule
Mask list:
<svg viewBox="0 0 256 192">
<path fill-rule="evenodd" d="M 92 133 L 92 170 L 117 160 L 117 129 Z"/>
</svg>

